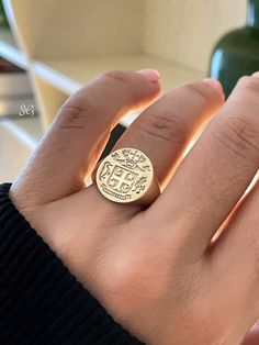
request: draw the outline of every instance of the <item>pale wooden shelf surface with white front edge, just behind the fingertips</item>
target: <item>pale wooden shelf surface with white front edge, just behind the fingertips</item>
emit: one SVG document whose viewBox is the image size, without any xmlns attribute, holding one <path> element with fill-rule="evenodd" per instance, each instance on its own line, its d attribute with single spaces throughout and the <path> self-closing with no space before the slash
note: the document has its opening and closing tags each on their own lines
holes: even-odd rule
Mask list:
<svg viewBox="0 0 259 345">
<path fill-rule="evenodd" d="M 32 68 L 38 77 L 68 94 L 103 71 L 111 69 L 158 69 L 161 74 L 164 91 L 203 76 L 201 71 L 148 55 L 42 60 L 34 62 Z"/>
</svg>

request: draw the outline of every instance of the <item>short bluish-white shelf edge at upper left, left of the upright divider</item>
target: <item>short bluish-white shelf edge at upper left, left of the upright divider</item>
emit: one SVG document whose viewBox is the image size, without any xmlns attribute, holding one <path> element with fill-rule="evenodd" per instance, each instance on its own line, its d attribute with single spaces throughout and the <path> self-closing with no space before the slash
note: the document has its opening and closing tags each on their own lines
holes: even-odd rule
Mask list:
<svg viewBox="0 0 259 345">
<path fill-rule="evenodd" d="M 23 69 L 27 69 L 25 54 L 18 47 L 13 34 L 7 29 L 0 30 L 0 56 Z"/>
</svg>

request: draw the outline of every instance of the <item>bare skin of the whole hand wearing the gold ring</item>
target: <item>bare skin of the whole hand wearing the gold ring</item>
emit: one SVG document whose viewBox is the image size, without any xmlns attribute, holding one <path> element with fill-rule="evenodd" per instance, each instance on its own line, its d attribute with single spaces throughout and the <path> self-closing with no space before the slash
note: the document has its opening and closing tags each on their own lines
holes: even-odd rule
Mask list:
<svg viewBox="0 0 259 345">
<path fill-rule="evenodd" d="M 143 342 L 237 345 L 259 315 L 258 183 L 243 198 L 259 166 L 259 76 L 243 77 L 226 102 L 213 79 L 155 101 L 159 91 L 155 70 L 110 71 L 83 87 L 60 108 L 10 197 Z M 146 209 L 85 183 L 115 124 L 144 107 L 114 149 L 135 147 L 153 162 L 162 193 Z M 258 344 L 249 336 L 246 345 Z"/>
</svg>

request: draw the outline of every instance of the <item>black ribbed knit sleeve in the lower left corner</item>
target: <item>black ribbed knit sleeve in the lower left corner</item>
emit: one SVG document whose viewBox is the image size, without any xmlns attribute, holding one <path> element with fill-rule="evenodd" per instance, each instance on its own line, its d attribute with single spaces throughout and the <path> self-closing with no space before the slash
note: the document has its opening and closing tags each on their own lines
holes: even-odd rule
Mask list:
<svg viewBox="0 0 259 345">
<path fill-rule="evenodd" d="M 127 345 L 131 336 L 76 280 L 0 185 L 0 344 Z"/>
</svg>

